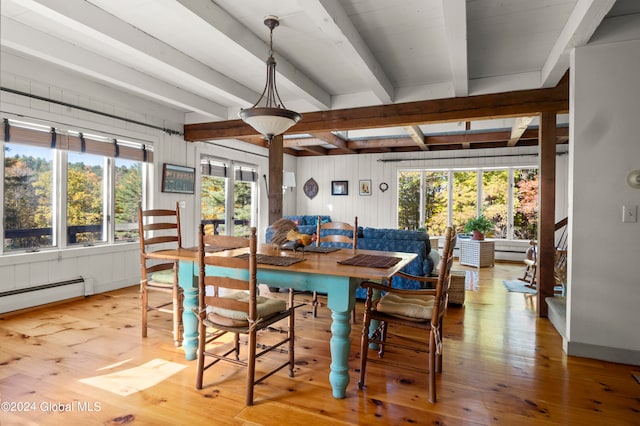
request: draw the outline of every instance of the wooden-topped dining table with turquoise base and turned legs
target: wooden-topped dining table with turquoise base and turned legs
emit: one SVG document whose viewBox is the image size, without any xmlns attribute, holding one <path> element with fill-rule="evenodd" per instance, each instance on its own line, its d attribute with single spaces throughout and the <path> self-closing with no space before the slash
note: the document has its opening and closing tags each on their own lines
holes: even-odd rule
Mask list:
<svg viewBox="0 0 640 426">
<path fill-rule="evenodd" d="M 248 251 L 248 247 L 245 247 L 218 250 L 206 255 L 246 256 Z M 160 250 L 150 256 L 179 261 L 178 283 L 183 290 L 184 307 L 182 348 L 186 359 L 194 360 L 198 348 L 198 319 L 195 315 L 198 309 L 197 248 Z M 351 248 L 308 247 L 305 251 L 292 251 L 273 244 L 258 246 L 257 280 L 259 284 L 265 284 L 270 288 L 293 288 L 327 295 L 327 306 L 331 310 L 329 382 L 334 398 L 344 398 L 349 384 L 350 318 L 355 305 L 356 289 L 365 280 L 390 282 L 392 276 L 415 257 L 415 253 Z M 218 269 L 219 267 L 210 268 Z M 217 272 L 232 273 L 231 271 Z M 208 273 L 216 273 L 216 271 L 208 271 Z M 248 270 L 241 271 L 240 274 L 245 276 L 238 276 L 238 278 L 248 279 Z"/>
</svg>

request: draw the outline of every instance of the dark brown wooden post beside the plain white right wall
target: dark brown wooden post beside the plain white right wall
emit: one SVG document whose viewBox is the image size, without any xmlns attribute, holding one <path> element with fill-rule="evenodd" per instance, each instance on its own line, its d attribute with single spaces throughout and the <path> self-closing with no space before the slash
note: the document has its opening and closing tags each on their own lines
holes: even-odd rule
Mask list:
<svg viewBox="0 0 640 426">
<path fill-rule="evenodd" d="M 556 211 L 556 113 L 540 115 L 540 188 L 538 219 L 538 316 L 546 318 L 547 297 L 555 286 L 555 211 Z"/>
</svg>

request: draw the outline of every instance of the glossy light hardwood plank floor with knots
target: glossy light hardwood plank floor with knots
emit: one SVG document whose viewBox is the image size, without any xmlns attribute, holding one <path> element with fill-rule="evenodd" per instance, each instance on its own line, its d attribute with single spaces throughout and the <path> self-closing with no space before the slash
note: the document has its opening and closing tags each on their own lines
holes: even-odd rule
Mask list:
<svg viewBox="0 0 640 426">
<path fill-rule="evenodd" d="M 258 385 L 255 406 L 244 406 L 244 374 L 233 366 L 213 367 L 196 391 L 195 362 L 168 334 L 140 337 L 133 286 L 0 319 L 0 424 L 640 424 L 640 384 L 632 376 L 640 367 L 566 356 L 551 323 L 536 317 L 535 297 L 502 285 L 522 270 L 482 268 L 479 290 L 466 293 L 464 307 L 449 308 L 436 404 L 427 401 L 426 377 L 376 365 L 358 391 L 360 315 L 347 398 L 332 398 L 326 308 L 317 318 L 299 310 L 296 377 L 277 373 Z M 361 302 L 357 308 L 361 314 Z M 154 359 L 184 368 L 128 396 L 79 381 Z"/>
</svg>

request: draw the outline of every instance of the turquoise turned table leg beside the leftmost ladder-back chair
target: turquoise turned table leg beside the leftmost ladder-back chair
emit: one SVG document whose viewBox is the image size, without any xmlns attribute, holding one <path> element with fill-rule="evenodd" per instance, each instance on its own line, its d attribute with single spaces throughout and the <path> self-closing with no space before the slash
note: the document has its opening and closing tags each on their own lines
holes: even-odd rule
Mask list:
<svg viewBox="0 0 640 426">
<path fill-rule="evenodd" d="M 193 262 L 180 262 L 178 283 L 182 287 L 184 300 L 182 302 L 182 349 L 188 361 L 196 359 L 198 350 L 198 319 L 194 310 L 198 309 L 198 282 L 194 275 Z"/>
</svg>

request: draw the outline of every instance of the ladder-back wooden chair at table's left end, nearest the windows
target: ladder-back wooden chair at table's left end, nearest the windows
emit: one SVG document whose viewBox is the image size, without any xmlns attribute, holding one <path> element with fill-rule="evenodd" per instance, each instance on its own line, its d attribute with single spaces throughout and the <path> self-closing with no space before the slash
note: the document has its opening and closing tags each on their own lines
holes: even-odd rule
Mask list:
<svg viewBox="0 0 640 426">
<path fill-rule="evenodd" d="M 175 210 L 143 210 L 138 206 L 138 231 L 140 234 L 140 299 L 142 305 L 142 337 L 147 337 L 147 329 L 170 331 L 174 344 L 182 344 L 182 289 L 178 285 L 178 261 L 159 261 L 149 254 L 157 250 L 182 247 L 180 231 L 180 207 Z M 170 294 L 150 302 L 149 292 Z M 173 326 L 168 329 L 157 321 L 149 321 L 149 312 L 163 312 L 172 315 Z"/>
</svg>

